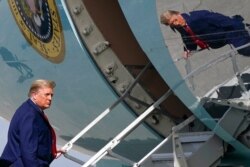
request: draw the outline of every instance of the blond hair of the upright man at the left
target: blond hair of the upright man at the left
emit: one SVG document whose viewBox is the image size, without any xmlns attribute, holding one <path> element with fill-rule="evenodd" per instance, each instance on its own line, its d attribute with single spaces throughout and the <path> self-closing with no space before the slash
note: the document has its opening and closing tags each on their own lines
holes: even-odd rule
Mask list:
<svg viewBox="0 0 250 167">
<path fill-rule="evenodd" d="M 56 83 L 54 81 L 38 79 L 32 82 L 30 86 L 30 90 L 28 93 L 28 97 L 31 97 L 32 93 L 37 92 L 40 88 L 54 88 L 56 87 Z"/>
</svg>

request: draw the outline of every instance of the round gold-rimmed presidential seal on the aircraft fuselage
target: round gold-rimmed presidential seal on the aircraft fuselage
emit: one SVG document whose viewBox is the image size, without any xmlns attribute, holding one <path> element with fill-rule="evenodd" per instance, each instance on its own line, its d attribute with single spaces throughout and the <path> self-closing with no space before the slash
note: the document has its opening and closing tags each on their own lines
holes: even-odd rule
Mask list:
<svg viewBox="0 0 250 167">
<path fill-rule="evenodd" d="M 12 14 L 26 40 L 44 58 L 64 59 L 62 24 L 54 0 L 8 0 Z"/>
</svg>

